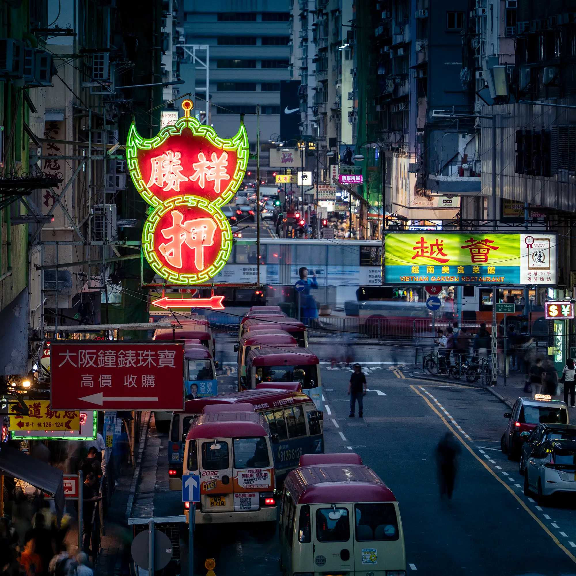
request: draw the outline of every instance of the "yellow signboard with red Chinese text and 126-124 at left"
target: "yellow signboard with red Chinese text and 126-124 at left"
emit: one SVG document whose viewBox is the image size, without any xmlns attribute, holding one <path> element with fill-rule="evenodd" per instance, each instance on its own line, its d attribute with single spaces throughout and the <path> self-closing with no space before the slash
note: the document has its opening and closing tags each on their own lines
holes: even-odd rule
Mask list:
<svg viewBox="0 0 576 576">
<path fill-rule="evenodd" d="M 9 430 L 54 430 L 80 429 L 80 412 L 77 410 L 50 410 L 50 400 L 26 400 L 28 416 L 18 414 L 16 402 L 10 403 Z"/>
</svg>

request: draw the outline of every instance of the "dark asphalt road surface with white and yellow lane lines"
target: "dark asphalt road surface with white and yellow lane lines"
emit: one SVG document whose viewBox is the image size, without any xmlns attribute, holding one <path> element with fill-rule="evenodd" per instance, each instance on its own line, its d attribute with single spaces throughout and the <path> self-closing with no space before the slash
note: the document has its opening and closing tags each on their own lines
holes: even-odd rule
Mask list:
<svg viewBox="0 0 576 576">
<path fill-rule="evenodd" d="M 232 345 L 230 340 L 218 346 L 226 372 L 219 378 L 221 392 L 234 388 Z M 486 389 L 404 377 L 401 366 L 410 361 L 409 349 L 358 344 L 355 359 L 365 366 L 370 392 L 365 418 L 348 418 L 350 370 L 331 369 L 328 346 L 311 347 L 322 362 L 327 452 L 361 454 L 395 493 L 408 574 L 576 574 L 576 503 L 560 498 L 539 507 L 524 496 L 518 463 L 499 450 L 505 404 Z M 457 434 L 462 449 L 451 501 L 439 497 L 434 458 L 448 430 Z M 135 507 L 146 502 L 148 508 L 139 510 L 150 512 L 153 506 L 155 516 L 182 510 L 180 493 L 167 490 L 166 441 L 166 435 L 151 430 L 145 490 Z M 152 466 L 155 457 L 157 467 Z M 204 573 L 204 559 L 215 558 L 217 574 L 278 576 L 278 556 L 277 536 L 257 526 L 196 530 L 198 574 Z"/>
</svg>

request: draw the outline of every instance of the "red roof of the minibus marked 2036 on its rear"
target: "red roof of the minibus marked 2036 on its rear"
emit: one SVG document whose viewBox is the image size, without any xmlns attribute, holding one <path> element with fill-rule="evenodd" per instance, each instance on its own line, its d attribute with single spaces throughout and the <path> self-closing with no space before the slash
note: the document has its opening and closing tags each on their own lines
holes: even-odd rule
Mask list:
<svg viewBox="0 0 576 576">
<path fill-rule="evenodd" d="M 192 422 L 187 440 L 238 438 L 268 435 L 268 423 L 256 412 L 217 412 L 202 414 Z"/>
</svg>

